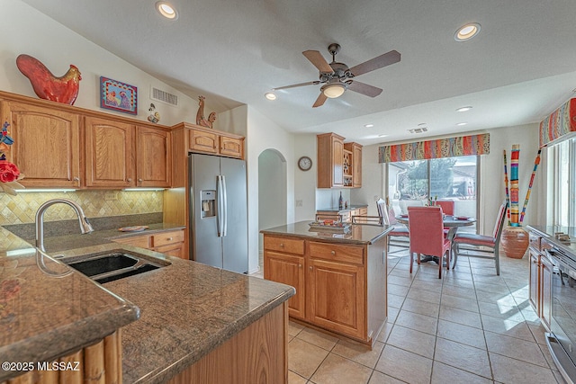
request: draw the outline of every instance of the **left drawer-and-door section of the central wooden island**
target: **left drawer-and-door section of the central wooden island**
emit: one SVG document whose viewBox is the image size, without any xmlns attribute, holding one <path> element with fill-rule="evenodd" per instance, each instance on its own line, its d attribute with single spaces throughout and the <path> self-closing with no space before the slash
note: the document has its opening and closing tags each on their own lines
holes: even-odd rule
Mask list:
<svg viewBox="0 0 576 384">
<path fill-rule="evenodd" d="M 265 237 L 264 253 L 264 278 L 291 285 L 296 289 L 296 294 L 288 299 L 288 313 L 291 317 L 303 319 L 306 302 L 304 297 L 304 241 Z"/>
</svg>

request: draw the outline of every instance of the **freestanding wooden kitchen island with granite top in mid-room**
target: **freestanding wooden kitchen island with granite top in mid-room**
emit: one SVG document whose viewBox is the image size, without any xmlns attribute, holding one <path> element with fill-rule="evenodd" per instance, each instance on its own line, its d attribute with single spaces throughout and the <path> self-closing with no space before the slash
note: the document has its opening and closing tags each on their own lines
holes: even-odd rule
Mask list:
<svg viewBox="0 0 576 384">
<path fill-rule="evenodd" d="M 372 345 L 386 323 L 388 226 L 312 230 L 301 221 L 261 230 L 264 277 L 296 288 L 291 318 Z"/>
</svg>

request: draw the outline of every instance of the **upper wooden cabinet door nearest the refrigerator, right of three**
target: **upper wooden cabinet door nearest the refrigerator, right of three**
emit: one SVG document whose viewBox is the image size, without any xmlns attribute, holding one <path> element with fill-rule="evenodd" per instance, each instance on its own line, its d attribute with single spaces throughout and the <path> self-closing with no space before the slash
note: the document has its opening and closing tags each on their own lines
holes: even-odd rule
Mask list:
<svg viewBox="0 0 576 384">
<path fill-rule="evenodd" d="M 138 127 L 136 131 L 136 185 L 169 188 L 171 164 L 170 133 L 162 129 Z"/>
</svg>

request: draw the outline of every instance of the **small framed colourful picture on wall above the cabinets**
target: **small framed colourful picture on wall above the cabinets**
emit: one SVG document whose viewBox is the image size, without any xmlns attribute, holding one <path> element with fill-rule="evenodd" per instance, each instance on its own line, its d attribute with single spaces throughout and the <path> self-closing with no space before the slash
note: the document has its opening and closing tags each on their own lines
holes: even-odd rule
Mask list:
<svg viewBox="0 0 576 384">
<path fill-rule="evenodd" d="M 100 107 L 133 115 L 138 114 L 138 88 L 100 76 Z"/>
</svg>

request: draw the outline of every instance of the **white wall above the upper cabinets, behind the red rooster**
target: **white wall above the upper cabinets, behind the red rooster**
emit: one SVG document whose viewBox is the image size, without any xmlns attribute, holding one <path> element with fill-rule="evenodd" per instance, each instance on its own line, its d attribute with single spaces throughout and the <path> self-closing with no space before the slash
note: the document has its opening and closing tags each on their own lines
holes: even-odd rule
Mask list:
<svg viewBox="0 0 576 384">
<path fill-rule="evenodd" d="M 160 124 L 171 126 L 181 121 L 196 121 L 197 99 L 149 76 L 20 0 L 0 0 L 0 9 L 4 15 L 0 22 L 0 90 L 38 97 L 28 78 L 16 67 L 16 58 L 25 53 L 38 58 L 55 76 L 64 75 L 70 64 L 79 68 L 82 80 L 74 104 L 77 107 L 146 121 L 148 107 L 154 103 L 160 113 Z M 100 76 L 138 87 L 138 116 L 100 108 Z M 179 105 L 152 101 L 149 97 L 152 85 L 178 96 Z M 205 111 L 212 111 L 210 100 L 206 100 Z M 218 123 L 217 120 L 215 129 L 219 129 Z"/>
</svg>

